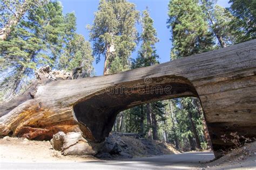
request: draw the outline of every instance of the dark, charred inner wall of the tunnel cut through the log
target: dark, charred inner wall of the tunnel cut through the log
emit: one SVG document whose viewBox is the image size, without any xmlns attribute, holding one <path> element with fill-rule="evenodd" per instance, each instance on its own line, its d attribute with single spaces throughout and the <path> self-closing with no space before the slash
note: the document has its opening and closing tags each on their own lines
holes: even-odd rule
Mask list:
<svg viewBox="0 0 256 170">
<path fill-rule="evenodd" d="M 198 94 L 192 83 L 181 76 L 145 77 L 114 84 L 82 98 L 73 106 L 73 111 L 77 121 L 86 126 L 85 136 L 90 132 L 91 140 L 99 143 L 109 136 L 119 112 L 177 97 L 198 97 Z"/>
</svg>

